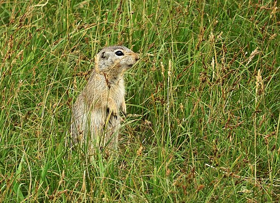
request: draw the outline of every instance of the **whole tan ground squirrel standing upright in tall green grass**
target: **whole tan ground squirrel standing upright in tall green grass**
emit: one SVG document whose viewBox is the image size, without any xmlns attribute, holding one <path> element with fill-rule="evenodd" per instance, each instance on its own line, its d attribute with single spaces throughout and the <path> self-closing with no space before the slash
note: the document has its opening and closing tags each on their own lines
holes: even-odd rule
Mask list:
<svg viewBox="0 0 280 203">
<path fill-rule="evenodd" d="M 126 115 L 123 73 L 138 60 L 139 56 L 124 46 L 105 47 L 95 56 L 95 69 L 72 108 L 74 143 L 116 150 L 120 110 Z"/>
</svg>

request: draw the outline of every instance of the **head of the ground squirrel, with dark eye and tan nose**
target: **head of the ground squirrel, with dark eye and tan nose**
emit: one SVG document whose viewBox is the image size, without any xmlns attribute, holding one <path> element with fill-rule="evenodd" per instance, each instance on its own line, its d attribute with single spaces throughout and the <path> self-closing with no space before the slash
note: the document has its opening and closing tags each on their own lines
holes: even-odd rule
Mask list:
<svg viewBox="0 0 280 203">
<path fill-rule="evenodd" d="M 119 74 L 131 68 L 139 56 L 125 46 L 108 46 L 96 57 L 96 69 L 101 72 Z"/>
</svg>

